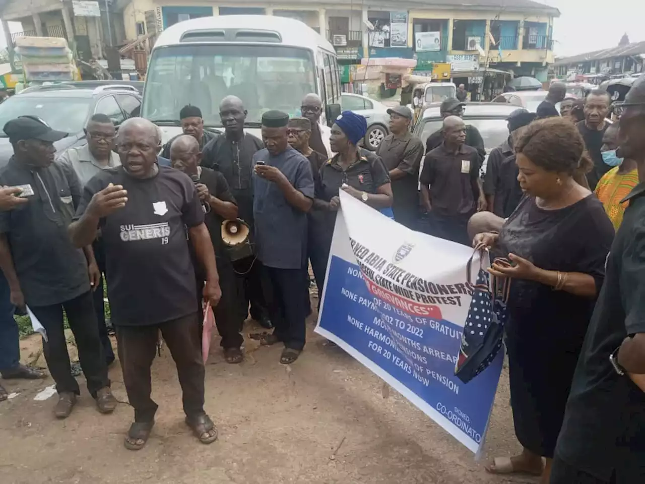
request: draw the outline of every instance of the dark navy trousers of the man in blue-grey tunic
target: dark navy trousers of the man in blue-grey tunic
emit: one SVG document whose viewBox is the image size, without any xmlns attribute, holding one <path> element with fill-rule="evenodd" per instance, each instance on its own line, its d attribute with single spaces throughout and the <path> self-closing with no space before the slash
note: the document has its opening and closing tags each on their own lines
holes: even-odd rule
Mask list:
<svg viewBox="0 0 645 484">
<path fill-rule="evenodd" d="M 264 267 L 266 271 L 266 297 L 273 334 L 284 347 L 302 350 L 306 339 L 304 320 L 307 307 L 304 303 L 305 268 L 279 269 Z"/>
</svg>

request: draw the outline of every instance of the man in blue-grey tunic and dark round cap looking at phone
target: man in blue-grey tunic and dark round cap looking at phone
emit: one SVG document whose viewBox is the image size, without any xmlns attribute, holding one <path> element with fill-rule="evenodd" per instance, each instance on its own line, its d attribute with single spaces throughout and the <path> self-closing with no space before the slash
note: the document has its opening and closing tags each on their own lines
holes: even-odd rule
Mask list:
<svg viewBox="0 0 645 484">
<path fill-rule="evenodd" d="M 284 343 L 280 362 L 285 365 L 293 363 L 304 348 L 307 212 L 314 196 L 312 168 L 289 146 L 288 122 L 283 112 L 264 113 L 266 148 L 253 156 L 255 236 L 272 292 L 269 310 L 275 327 L 272 334 L 261 336 L 261 342 L 265 346 Z"/>
</svg>

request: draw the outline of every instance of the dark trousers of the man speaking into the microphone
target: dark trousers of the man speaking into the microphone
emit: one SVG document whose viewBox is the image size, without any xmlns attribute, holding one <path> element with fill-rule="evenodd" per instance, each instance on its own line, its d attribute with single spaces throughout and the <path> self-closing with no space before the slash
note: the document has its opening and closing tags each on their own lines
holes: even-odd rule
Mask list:
<svg viewBox="0 0 645 484">
<path fill-rule="evenodd" d="M 239 348 L 244 343 L 244 337 L 241 334 L 242 323 L 237 299 L 237 279 L 233 272 L 233 265 L 230 260 L 223 257 L 217 257 L 217 272 L 219 273 L 219 287 L 222 290 L 222 297 L 219 304 L 213 308 L 215 316 L 215 325 L 217 332 L 222 340 L 219 345 L 222 348 Z M 197 277 L 197 308 L 200 314 L 203 314 L 203 297 L 204 288 L 203 277 Z"/>
</svg>

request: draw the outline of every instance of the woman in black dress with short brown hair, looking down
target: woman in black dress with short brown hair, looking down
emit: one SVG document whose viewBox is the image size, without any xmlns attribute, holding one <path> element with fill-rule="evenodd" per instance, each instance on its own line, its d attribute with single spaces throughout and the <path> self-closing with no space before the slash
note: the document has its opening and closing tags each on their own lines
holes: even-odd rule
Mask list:
<svg viewBox="0 0 645 484">
<path fill-rule="evenodd" d="M 515 151 L 527 196 L 499 234 L 478 234 L 475 245 L 511 261 L 493 263 L 490 272 L 512 279 L 506 347 L 515 434 L 524 450 L 487 469 L 541 475 L 546 484 L 614 232 L 600 201 L 573 179 L 586 162 L 575 125 L 560 117 L 536 121 Z"/>
</svg>

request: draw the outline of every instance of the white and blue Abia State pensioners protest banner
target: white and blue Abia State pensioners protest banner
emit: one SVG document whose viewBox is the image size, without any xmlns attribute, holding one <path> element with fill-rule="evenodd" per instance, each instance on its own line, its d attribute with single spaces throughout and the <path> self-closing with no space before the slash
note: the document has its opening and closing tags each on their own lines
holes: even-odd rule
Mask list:
<svg viewBox="0 0 645 484">
<path fill-rule="evenodd" d="M 503 355 L 467 384 L 454 376 L 472 249 L 413 232 L 342 190 L 340 197 L 315 331 L 478 452 Z"/>
</svg>

